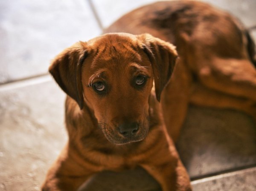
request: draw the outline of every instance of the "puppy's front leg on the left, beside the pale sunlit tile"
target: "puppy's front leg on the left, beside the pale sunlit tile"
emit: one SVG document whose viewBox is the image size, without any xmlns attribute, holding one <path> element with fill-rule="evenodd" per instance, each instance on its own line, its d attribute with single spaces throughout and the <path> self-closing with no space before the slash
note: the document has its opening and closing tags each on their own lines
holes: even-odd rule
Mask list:
<svg viewBox="0 0 256 191">
<path fill-rule="evenodd" d="M 88 164 L 79 163 L 78 157 L 76 151 L 65 147 L 49 169 L 42 191 L 76 191 L 94 174 L 93 169 L 85 166 Z"/>
</svg>

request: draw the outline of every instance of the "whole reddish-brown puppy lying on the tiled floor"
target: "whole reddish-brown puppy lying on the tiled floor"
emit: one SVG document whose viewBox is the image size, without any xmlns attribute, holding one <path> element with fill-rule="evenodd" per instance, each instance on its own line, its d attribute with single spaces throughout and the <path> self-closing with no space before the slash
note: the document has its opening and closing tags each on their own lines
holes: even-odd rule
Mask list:
<svg viewBox="0 0 256 191">
<path fill-rule="evenodd" d="M 99 171 L 138 165 L 163 191 L 191 190 L 170 136 L 189 102 L 255 116 L 253 43 L 230 15 L 192 1 L 145 6 L 106 32 L 126 33 L 76 43 L 49 68 L 67 93 L 69 141 L 42 190 L 77 190 Z"/>
</svg>

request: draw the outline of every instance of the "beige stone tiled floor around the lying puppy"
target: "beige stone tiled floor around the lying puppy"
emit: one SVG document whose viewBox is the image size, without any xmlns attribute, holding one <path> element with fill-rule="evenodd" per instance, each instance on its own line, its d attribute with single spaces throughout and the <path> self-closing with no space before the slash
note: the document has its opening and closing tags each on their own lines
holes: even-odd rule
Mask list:
<svg viewBox="0 0 256 191">
<path fill-rule="evenodd" d="M 255 0 L 205 1 L 239 17 L 256 40 Z M 0 191 L 39 190 L 47 168 L 67 140 L 65 96 L 47 74 L 50 60 L 76 41 L 101 34 L 125 12 L 151 2 L 0 1 Z M 195 191 L 256 190 L 255 129 L 253 120 L 238 111 L 189 108 L 177 148 Z M 102 182 L 106 177 L 108 181 Z M 138 185 L 138 179 L 144 180 L 147 190 L 137 187 L 136 191 L 159 188 L 137 169 L 99 174 L 87 190 L 106 191 L 104 184 L 112 181 L 113 185 L 116 177 L 130 179 L 130 188 Z M 99 182 L 101 188 L 90 187 Z M 122 182 L 114 185 L 120 190 Z"/>
</svg>

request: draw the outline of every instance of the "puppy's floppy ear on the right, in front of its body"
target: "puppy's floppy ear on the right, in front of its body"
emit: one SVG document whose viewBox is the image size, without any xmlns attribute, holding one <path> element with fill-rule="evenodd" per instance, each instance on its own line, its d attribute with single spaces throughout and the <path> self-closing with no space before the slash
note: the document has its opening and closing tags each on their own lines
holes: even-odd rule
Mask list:
<svg viewBox="0 0 256 191">
<path fill-rule="evenodd" d="M 142 41 L 143 51 L 152 64 L 156 97 L 160 101 L 161 92 L 172 75 L 178 56 L 177 51 L 172 44 L 150 34 L 141 34 L 137 38 Z"/>
</svg>

